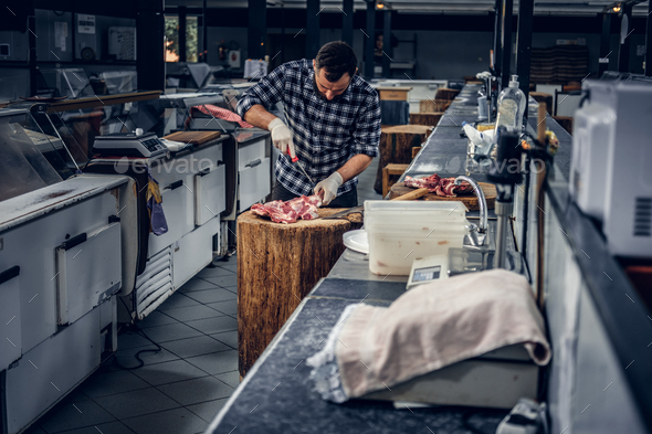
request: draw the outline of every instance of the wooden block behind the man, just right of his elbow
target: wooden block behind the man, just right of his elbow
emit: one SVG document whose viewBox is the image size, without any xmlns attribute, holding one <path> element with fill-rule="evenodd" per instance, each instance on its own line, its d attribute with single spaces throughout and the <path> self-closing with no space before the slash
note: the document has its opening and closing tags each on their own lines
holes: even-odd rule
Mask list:
<svg viewBox="0 0 652 434">
<path fill-rule="evenodd" d="M 423 125 L 397 125 L 382 128 L 380 133 L 380 161 L 376 172 L 374 190 L 382 194 L 382 168 L 391 162 L 409 163 L 412 161 L 412 147 L 421 146 L 432 131 Z M 398 178 L 398 177 L 397 177 Z"/>
</svg>

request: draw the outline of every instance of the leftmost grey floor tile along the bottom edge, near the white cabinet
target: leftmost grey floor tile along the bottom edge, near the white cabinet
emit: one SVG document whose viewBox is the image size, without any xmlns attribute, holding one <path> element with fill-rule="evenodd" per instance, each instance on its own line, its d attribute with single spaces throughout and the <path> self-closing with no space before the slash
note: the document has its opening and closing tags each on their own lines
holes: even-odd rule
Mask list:
<svg viewBox="0 0 652 434">
<path fill-rule="evenodd" d="M 115 421 L 109 412 L 91 400 L 57 405 L 51 413 L 41 422 L 48 434 Z"/>
</svg>

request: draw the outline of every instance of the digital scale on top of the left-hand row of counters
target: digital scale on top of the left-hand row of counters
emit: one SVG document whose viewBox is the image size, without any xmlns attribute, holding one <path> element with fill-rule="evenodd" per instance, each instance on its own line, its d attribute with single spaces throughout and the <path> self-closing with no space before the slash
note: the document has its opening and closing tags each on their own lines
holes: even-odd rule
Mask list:
<svg viewBox="0 0 652 434">
<path fill-rule="evenodd" d="M 95 137 L 93 152 L 103 157 L 153 158 L 168 152 L 168 148 L 154 133 L 115 133 Z"/>
</svg>

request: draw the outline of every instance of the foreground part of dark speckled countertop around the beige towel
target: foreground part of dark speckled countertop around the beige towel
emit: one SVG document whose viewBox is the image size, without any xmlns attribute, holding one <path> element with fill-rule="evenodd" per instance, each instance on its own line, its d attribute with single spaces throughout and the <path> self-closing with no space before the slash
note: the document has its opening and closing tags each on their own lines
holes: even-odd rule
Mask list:
<svg viewBox="0 0 652 434">
<path fill-rule="evenodd" d="M 323 297 L 341 292 L 338 279 L 322 280 L 254 364 L 207 433 L 494 433 L 503 411 L 441 406 L 396 410 L 391 403 L 322 400 L 308 379 L 305 359 L 317 352 L 344 308 L 359 299 Z M 350 285 L 356 285 L 350 280 Z M 392 297 L 391 283 L 375 283 Z M 356 289 L 357 290 L 357 289 Z M 388 306 L 387 300 L 365 303 Z M 466 427 L 471 425 L 472 428 Z"/>
</svg>

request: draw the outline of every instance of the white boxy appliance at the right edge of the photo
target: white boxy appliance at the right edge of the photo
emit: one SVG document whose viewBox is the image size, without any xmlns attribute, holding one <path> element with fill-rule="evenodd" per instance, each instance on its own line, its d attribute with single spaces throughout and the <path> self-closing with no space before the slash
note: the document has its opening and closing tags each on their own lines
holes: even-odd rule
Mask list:
<svg viewBox="0 0 652 434">
<path fill-rule="evenodd" d="M 570 193 L 602 222 L 613 255 L 652 256 L 652 86 L 585 82 L 574 128 Z"/>
</svg>

